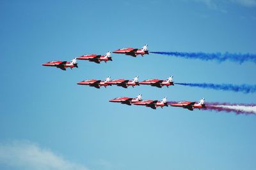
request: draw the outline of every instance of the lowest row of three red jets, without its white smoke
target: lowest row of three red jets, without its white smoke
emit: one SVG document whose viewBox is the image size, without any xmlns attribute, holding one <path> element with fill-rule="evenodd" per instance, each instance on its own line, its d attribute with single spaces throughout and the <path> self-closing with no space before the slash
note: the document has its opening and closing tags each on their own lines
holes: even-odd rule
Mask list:
<svg viewBox="0 0 256 170">
<path fill-rule="evenodd" d="M 121 103 L 121 104 L 127 104 L 127 105 L 138 105 L 138 106 L 146 106 L 149 108 L 152 108 L 154 110 L 156 110 L 157 107 L 161 107 L 163 108 L 164 106 L 173 106 L 173 107 L 180 107 L 180 108 L 185 108 L 188 109 L 190 111 L 193 111 L 194 108 L 205 108 L 205 102 L 204 102 L 204 98 L 200 99 L 200 101 L 198 103 L 196 102 L 189 102 L 189 101 L 184 101 L 184 102 L 179 102 L 179 103 L 170 103 L 167 101 L 167 97 L 164 97 L 161 101 L 157 101 L 157 100 L 142 100 L 142 94 L 140 94 L 139 96 L 135 97 L 135 98 L 131 98 L 131 97 L 116 97 L 115 99 L 111 99 L 109 100 L 109 102 L 113 102 L 113 103 Z"/>
</svg>

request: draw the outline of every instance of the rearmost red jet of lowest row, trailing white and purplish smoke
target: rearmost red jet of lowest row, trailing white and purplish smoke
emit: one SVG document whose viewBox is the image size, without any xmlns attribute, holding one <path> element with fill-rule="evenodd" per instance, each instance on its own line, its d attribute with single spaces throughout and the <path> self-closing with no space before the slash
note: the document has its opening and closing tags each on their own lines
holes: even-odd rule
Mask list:
<svg viewBox="0 0 256 170">
<path fill-rule="evenodd" d="M 204 98 L 202 98 L 202 99 L 200 99 L 200 101 L 198 103 L 189 102 L 189 101 L 182 101 L 182 102 L 179 102 L 179 103 L 170 104 L 170 106 L 182 107 L 182 108 L 188 109 L 190 111 L 193 111 L 194 108 L 198 108 L 198 109 L 205 108 L 205 102 L 204 102 Z"/>
</svg>

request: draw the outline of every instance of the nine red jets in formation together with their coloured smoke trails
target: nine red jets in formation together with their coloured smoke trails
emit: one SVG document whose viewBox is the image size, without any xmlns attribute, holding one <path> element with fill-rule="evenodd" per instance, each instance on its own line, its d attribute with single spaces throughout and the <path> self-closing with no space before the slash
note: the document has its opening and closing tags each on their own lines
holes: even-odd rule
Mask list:
<svg viewBox="0 0 256 170">
<path fill-rule="evenodd" d="M 118 50 L 114 50 L 113 53 L 124 53 L 125 55 L 130 55 L 132 57 L 137 57 L 137 55 L 148 55 L 149 53 L 160 54 L 160 55 L 172 55 L 174 57 L 183 57 L 185 59 L 202 59 L 202 60 L 218 60 L 223 62 L 225 60 L 231 60 L 234 62 L 242 63 L 244 61 L 251 61 L 256 63 L 256 55 L 251 53 L 241 54 L 241 53 L 185 53 L 185 52 L 148 52 L 148 45 L 144 45 L 142 48 L 120 48 Z M 107 63 L 109 60 L 112 61 L 111 51 L 107 52 L 104 55 L 98 54 L 89 54 L 82 55 L 80 57 L 76 57 L 71 60 L 71 62 L 67 61 L 51 61 L 42 64 L 42 66 L 52 66 L 57 67 L 62 70 L 66 70 L 67 67 L 72 69 L 73 67 L 78 67 L 77 60 L 88 60 L 90 62 L 95 62 L 100 64 L 100 62 L 104 61 Z M 77 83 L 77 85 L 88 85 L 90 87 L 95 87 L 100 89 L 100 87 L 108 87 L 112 85 L 116 85 L 119 87 L 123 87 L 127 89 L 129 86 L 136 87 L 140 85 L 150 85 L 152 87 L 169 87 L 173 85 L 184 85 L 189 87 L 200 87 L 204 89 L 214 89 L 214 90 L 228 90 L 233 92 L 244 92 L 244 93 L 253 93 L 256 92 L 256 85 L 232 85 L 232 84 L 214 84 L 214 83 L 174 83 L 173 75 L 168 77 L 166 80 L 159 80 L 158 78 L 148 79 L 144 81 L 138 80 L 139 76 L 135 76 L 132 80 L 125 79 L 116 79 L 111 80 L 111 77 L 108 76 L 104 80 L 84 80 Z M 142 99 L 142 94 L 138 95 L 135 98 L 132 97 L 116 97 L 115 99 L 110 99 L 111 103 L 121 103 L 138 106 L 146 106 L 156 110 L 157 107 L 163 108 L 164 106 L 173 106 L 180 107 L 190 111 L 193 111 L 195 108 L 200 110 L 210 110 L 210 111 L 226 111 L 226 112 L 234 112 L 236 114 L 255 114 L 256 113 L 256 104 L 237 104 L 237 103 L 205 103 L 205 99 L 202 98 L 200 101 L 167 101 L 167 97 L 164 97 L 161 101 L 156 99 Z"/>
</svg>

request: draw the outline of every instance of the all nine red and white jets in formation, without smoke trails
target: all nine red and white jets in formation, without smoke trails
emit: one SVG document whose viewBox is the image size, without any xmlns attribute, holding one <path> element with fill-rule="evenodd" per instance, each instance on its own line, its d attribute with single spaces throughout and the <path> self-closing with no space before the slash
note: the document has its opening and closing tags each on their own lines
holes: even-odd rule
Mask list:
<svg viewBox="0 0 256 170">
<path fill-rule="evenodd" d="M 118 50 L 114 50 L 113 53 L 124 53 L 125 55 L 131 55 L 132 57 L 136 57 L 137 55 L 145 55 L 148 54 L 148 45 L 142 46 L 142 48 L 120 48 Z M 97 64 L 100 64 L 100 62 L 108 62 L 109 60 L 112 61 L 111 57 L 111 51 L 105 53 L 104 55 L 97 55 L 97 54 L 88 54 L 88 55 L 82 55 L 80 57 L 76 57 L 72 59 L 70 62 L 67 61 L 61 61 L 61 60 L 55 60 L 51 62 L 46 62 L 42 64 L 42 66 L 51 66 L 51 67 L 57 67 L 62 70 L 66 70 L 67 67 L 70 67 L 70 69 L 77 66 L 77 60 L 88 60 L 90 62 L 95 62 Z M 164 86 L 169 87 L 171 85 L 174 85 L 173 83 L 173 76 L 168 77 L 166 80 L 159 80 L 159 79 L 150 79 L 150 80 L 144 80 L 139 81 L 139 76 L 134 77 L 132 80 L 125 80 L 125 79 L 115 79 L 111 80 L 111 77 L 108 76 L 104 80 L 84 80 L 77 83 L 77 85 L 88 85 L 90 87 L 95 87 L 97 89 L 100 89 L 100 87 L 108 87 L 112 85 L 116 85 L 119 87 L 123 87 L 127 89 L 127 87 L 135 87 L 137 85 L 150 85 L 152 87 L 158 87 L 162 88 Z M 143 100 L 142 94 L 135 98 L 131 97 L 116 97 L 115 99 L 109 100 L 109 102 L 113 103 L 122 103 L 127 105 L 137 105 L 137 106 L 146 106 L 149 108 L 152 108 L 156 110 L 157 107 L 163 108 L 164 106 L 173 106 L 173 107 L 180 107 L 185 108 L 188 110 L 193 111 L 195 108 L 205 108 L 205 102 L 204 98 L 202 98 L 198 103 L 197 102 L 189 102 L 189 101 L 182 101 L 179 103 L 174 102 L 168 102 L 167 97 L 164 97 L 161 101 L 157 100 Z"/>
</svg>

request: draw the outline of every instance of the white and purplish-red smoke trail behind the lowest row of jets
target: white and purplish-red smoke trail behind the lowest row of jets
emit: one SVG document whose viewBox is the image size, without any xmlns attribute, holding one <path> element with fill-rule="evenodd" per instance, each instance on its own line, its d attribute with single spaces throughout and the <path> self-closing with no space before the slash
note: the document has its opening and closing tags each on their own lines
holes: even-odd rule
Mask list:
<svg viewBox="0 0 256 170">
<path fill-rule="evenodd" d="M 238 114 L 256 114 L 256 104 L 205 103 L 204 110 L 225 111 Z"/>
</svg>

